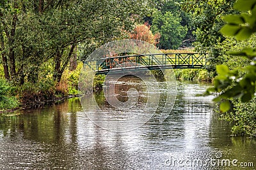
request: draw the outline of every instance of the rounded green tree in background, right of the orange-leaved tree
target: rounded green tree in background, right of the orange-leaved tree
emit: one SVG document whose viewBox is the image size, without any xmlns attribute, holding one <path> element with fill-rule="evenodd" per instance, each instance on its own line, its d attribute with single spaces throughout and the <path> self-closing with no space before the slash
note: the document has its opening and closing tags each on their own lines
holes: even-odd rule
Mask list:
<svg viewBox="0 0 256 170">
<path fill-rule="evenodd" d="M 156 1 L 157 7 L 151 18 L 145 18 L 152 25 L 154 34 L 160 33 L 157 46 L 160 49 L 177 49 L 191 45 L 193 36 L 189 25 L 189 15 L 180 9 L 180 0 Z"/>
</svg>

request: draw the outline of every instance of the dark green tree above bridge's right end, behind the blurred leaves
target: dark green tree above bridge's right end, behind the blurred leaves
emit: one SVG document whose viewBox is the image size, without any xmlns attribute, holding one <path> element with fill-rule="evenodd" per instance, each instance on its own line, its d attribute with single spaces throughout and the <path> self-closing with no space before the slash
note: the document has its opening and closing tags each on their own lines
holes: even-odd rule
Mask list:
<svg viewBox="0 0 256 170">
<path fill-rule="evenodd" d="M 198 52 L 209 53 L 208 71 L 215 72 L 215 65 L 222 64 L 227 59 L 221 55 L 221 43 L 225 36 L 220 33 L 221 27 L 225 24 L 223 15 L 236 13 L 232 6 L 236 0 L 188 0 L 182 3 L 182 9 L 191 14 L 191 27 L 196 36 L 194 43 Z"/>
</svg>

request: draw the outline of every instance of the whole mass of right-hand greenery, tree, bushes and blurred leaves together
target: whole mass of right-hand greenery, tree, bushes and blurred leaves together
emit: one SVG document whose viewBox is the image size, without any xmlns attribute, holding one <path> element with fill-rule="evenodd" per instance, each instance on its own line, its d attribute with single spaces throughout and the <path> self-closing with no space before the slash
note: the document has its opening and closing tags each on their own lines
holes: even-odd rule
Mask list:
<svg viewBox="0 0 256 170">
<path fill-rule="evenodd" d="M 188 1 L 185 5 L 190 5 L 197 25 L 196 49 L 211 55 L 208 70 L 214 71 L 216 64 L 222 64 L 216 66 L 218 76 L 206 94 L 220 93 L 214 101 L 220 103 L 221 117 L 235 123 L 232 132 L 237 135 L 256 136 L 255 4 L 255 0 L 209 0 Z"/>
</svg>

